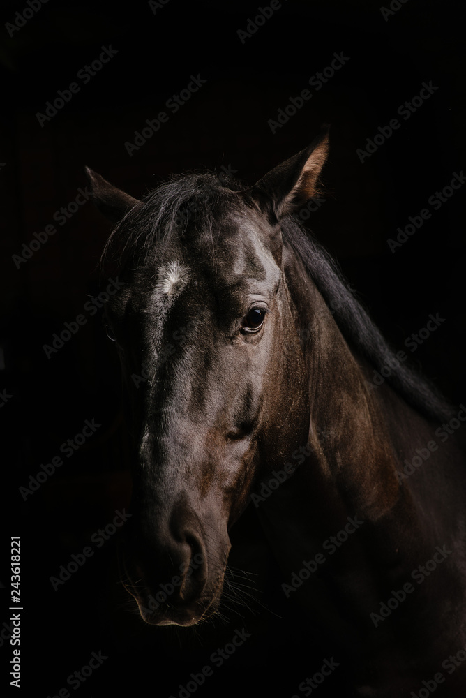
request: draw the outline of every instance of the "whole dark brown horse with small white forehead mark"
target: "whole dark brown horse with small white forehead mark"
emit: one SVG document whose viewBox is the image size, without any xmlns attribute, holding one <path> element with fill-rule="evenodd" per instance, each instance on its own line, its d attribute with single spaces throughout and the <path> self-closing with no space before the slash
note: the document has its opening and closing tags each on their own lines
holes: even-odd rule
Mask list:
<svg viewBox="0 0 466 698">
<path fill-rule="evenodd" d="M 202 623 L 254 507 L 283 592 L 345 658 L 346 695 L 459 697 L 466 410 L 300 223 L 328 150 L 323 128 L 253 186 L 195 171 L 141 200 L 86 169 L 122 282 L 105 325 L 134 443 L 125 586 L 146 623 Z"/>
</svg>

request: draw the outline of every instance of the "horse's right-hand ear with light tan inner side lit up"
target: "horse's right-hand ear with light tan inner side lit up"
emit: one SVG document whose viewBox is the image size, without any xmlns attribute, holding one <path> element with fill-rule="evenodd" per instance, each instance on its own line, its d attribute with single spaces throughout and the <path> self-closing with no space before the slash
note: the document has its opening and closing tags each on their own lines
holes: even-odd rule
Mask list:
<svg viewBox="0 0 466 698">
<path fill-rule="evenodd" d="M 329 127 L 325 126 L 307 148 L 257 181 L 250 194 L 262 209 L 272 207 L 276 218 L 282 218 L 320 193 L 317 179 L 328 151 Z"/>
</svg>

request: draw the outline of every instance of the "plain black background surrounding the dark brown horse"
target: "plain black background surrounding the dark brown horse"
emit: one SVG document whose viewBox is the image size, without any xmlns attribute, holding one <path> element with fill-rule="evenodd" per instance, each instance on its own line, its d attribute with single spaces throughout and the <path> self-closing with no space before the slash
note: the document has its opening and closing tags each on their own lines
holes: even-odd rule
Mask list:
<svg viewBox="0 0 466 698">
<path fill-rule="evenodd" d="M 135 197 L 167 175 L 193 168 L 225 165 L 253 183 L 329 122 L 326 201 L 309 227 L 336 255 L 396 348 L 425 327 L 430 313 L 444 318 L 411 359 L 453 403 L 464 401 L 463 189 L 396 253 L 386 242 L 408 216 L 432 211 L 430 195 L 466 167 L 463 16 L 459 2 L 409 0 L 399 6 L 385 21 L 378 2 L 285 1 L 242 43 L 237 30 L 257 15 L 255 2 L 170 0 L 154 14 L 139 1 L 50 0 L 12 37 L 3 25 L 27 5 L 3 3 L 0 390 L 11 397 L 0 408 L 8 483 L 1 558 L 8 563 L 9 536 L 21 533 L 22 695 L 58 695 L 92 651 L 103 651 L 108 659 L 81 685 L 80 698 L 178 696 L 179 683 L 186 685 L 190 672 L 208 664 L 213 649 L 243 625 L 251 638 L 197 694 L 252 696 L 276 689 L 276 695 L 291 697 L 320 668 L 324 650 L 300 650 L 312 629 L 292 602 L 284 603 L 280 579 L 269 609 L 291 620 L 256 605 L 255 616 L 245 611 L 243 620 L 240 611 L 230 623 L 197 632 L 149 628 L 118 584 L 116 533 L 54 591 L 50 577 L 59 566 L 129 503 L 119 368 L 100 314 L 85 313 L 86 325 L 50 359 L 43 350 L 108 283 L 99 279 L 98 260 L 110 224 L 86 203 L 19 269 L 12 255 L 21 254 L 33 232 L 53 223 L 54 212 L 86 186 L 84 165 Z M 109 45 L 117 50 L 114 58 L 88 84 L 76 80 L 78 70 Z M 269 119 L 309 87 L 334 52 L 350 60 L 273 134 Z M 206 84 L 172 114 L 165 102 L 197 74 Z M 81 85 L 79 94 L 41 127 L 37 112 L 73 81 Z M 361 163 L 356 149 L 397 117 L 424 81 L 438 89 L 407 121 L 399 119 L 399 130 Z M 130 157 L 125 142 L 133 142 L 135 131 L 160 110 L 169 121 Z M 27 486 L 40 463 L 59 455 L 61 443 L 80 433 L 86 419 L 101 425 L 95 436 L 24 501 L 18 488 Z M 0 581 L 3 623 L 8 567 Z M 5 667 L 8 641 L 0 655 Z M 247 678 L 250 671 L 253 678 Z M 7 674 L 2 669 L 0 691 L 10 688 Z"/>
</svg>

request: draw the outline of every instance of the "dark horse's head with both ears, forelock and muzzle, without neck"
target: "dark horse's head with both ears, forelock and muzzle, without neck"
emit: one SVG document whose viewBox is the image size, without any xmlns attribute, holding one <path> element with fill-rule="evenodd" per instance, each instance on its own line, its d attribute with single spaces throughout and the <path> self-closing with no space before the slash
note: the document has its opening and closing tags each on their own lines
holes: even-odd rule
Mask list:
<svg viewBox="0 0 466 698">
<path fill-rule="evenodd" d="M 105 322 L 134 441 L 126 587 L 148 623 L 215 612 L 230 527 L 271 463 L 307 442 L 281 224 L 317 194 L 327 147 L 322 131 L 249 188 L 189 174 L 140 201 L 87 170 L 121 250 L 125 283 Z"/>
</svg>

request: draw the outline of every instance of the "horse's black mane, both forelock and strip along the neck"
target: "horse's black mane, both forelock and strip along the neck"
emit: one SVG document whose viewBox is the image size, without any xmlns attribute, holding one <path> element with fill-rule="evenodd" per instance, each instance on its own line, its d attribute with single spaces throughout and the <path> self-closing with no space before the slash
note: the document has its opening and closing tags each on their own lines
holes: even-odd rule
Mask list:
<svg viewBox="0 0 466 698">
<path fill-rule="evenodd" d="M 190 222 L 197 229 L 212 230 L 220 201 L 243 209 L 244 203 L 237 194 L 243 188 L 238 181 L 213 172 L 172 177 L 148 193 L 112 230 L 103 260 L 114 256 L 121 267 L 128 263 L 139 266 L 149 256 L 153 258 L 158 245 L 181 237 Z M 421 414 L 435 421 L 451 417 L 452 408 L 436 387 L 412 366 L 398 362 L 396 352 L 350 291 L 326 249 L 294 216 L 285 216 L 281 228 L 284 239 L 301 257 L 326 304 L 333 309 L 333 317 L 350 346 L 377 371 L 396 365 L 387 382 Z"/>
</svg>

